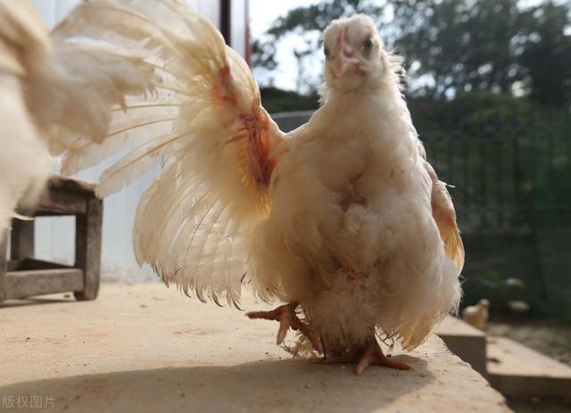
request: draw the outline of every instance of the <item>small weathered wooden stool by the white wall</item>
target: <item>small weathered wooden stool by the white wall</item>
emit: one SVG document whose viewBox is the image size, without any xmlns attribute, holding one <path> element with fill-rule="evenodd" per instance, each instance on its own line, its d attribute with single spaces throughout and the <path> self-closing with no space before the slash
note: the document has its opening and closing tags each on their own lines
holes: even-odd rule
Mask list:
<svg viewBox="0 0 571 413">
<path fill-rule="evenodd" d="M 103 201 L 95 195 L 95 186 L 54 176 L 36 210 L 18 212 L 32 217 L 75 216 L 75 263 L 70 267 L 34 259 L 34 221 L 13 219 L 9 235 L 0 239 L 0 302 L 66 292 L 78 300 L 94 300 L 99 291 L 103 221 Z"/>
</svg>

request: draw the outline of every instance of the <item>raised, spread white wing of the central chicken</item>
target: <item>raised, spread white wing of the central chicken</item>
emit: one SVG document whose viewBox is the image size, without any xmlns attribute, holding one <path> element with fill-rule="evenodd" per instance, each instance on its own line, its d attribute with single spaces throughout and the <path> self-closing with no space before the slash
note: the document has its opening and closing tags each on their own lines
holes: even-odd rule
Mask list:
<svg viewBox="0 0 571 413">
<path fill-rule="evenodd" d="M 66 168 L 93 165 L 132 145 L 103 172 L 99 190 L 110 194 L 161 160 L 137 207 L 137 261 L 186 294 L 237 305 L 246 259 L 240 234 L 269 212 L 278 161 L 270 153 L 283 136 L 261 107 L 247 64 L 179 0 L 80 4 L 54 36 L 87 37 L 142 56 L 138 64 L 153 70 L 156 90 L 154 101 L 129 98 L 112 112 L 103 142 L 76 145 Z"/>
</svg>

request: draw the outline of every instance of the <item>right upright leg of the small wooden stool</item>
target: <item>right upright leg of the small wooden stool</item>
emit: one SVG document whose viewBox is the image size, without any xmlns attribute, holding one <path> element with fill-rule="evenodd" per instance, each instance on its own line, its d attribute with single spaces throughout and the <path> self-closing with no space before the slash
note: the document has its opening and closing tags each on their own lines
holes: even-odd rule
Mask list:
<svg viewBox="0 0 571 413">
<path fill-rule="evenodd" d="M 74 292 L 78 300 L 95 300 L 101 273 L 103 201 L 87 201 L 87 213 L 76 216 L 75 267 L 83 269 L 84 290 Z"/>
</svg>

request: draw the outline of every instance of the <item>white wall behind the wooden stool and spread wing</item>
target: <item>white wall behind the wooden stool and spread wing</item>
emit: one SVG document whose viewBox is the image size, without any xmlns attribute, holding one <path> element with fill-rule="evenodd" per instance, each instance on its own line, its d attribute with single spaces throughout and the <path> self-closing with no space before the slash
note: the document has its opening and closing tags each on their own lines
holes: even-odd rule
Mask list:
<svg viewBox="0 0 571 413">
<path fill-rule="evenodd" d="M 19 0 L 14 0 L 19 1 Z M 218 27 L 219 8 L 214 0 L 187 0 L 191 6 Z M 80 0 L 32 0 L 46 25 L 51 29 Z M 233 4 L 244 4 L 244 0 L 235 0 Z M 233 12 L 235 7 L 233 6 Z M 242 11 L 244 13 L 244 11 Z M 245 53 L 244 16 L 238 16 L 244 26 L 232 22 L 232 37 L 236 41 L 236 50 Z M 242 30 L 240 33 L 239 30 Z M 112 161 L 99 165 L 79 174 L 78 178 L 96 181 L 103 169 Z M 157 170 L 150 171 L 119 194 L 107 197 L 103 203 L 103 280 L 145 281 L 156 279 L 153 271 L 138 268 L 131 243 L 133 220 L 137 202 L 141 194 L 150 185 Z M 44 260 L 59 260 L 71 263 L 74 256 L 75 225 L 73 217 L 39 218 L 36 220 L 36 256 Z"/>
</svg>

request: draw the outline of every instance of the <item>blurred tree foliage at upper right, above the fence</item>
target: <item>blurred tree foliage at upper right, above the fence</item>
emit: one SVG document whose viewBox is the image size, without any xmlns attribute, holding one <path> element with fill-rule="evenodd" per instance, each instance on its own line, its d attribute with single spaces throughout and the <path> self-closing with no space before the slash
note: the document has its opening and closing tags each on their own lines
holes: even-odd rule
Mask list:
<svg viewBox="0 0 571 413">
<path fill-rule="evenodd" d="M 517 0 L 410 0 L 395 7 L 397 48 L 434 83 L 417 93 L 490 90 L 525 93 L 550 103 L 571 97 L 567 4 L 522 9 Z M 419 18 L 418 16 L 424 16 Z M 414 24 L 410 24 L 414 21 Z"/>
</svg>

